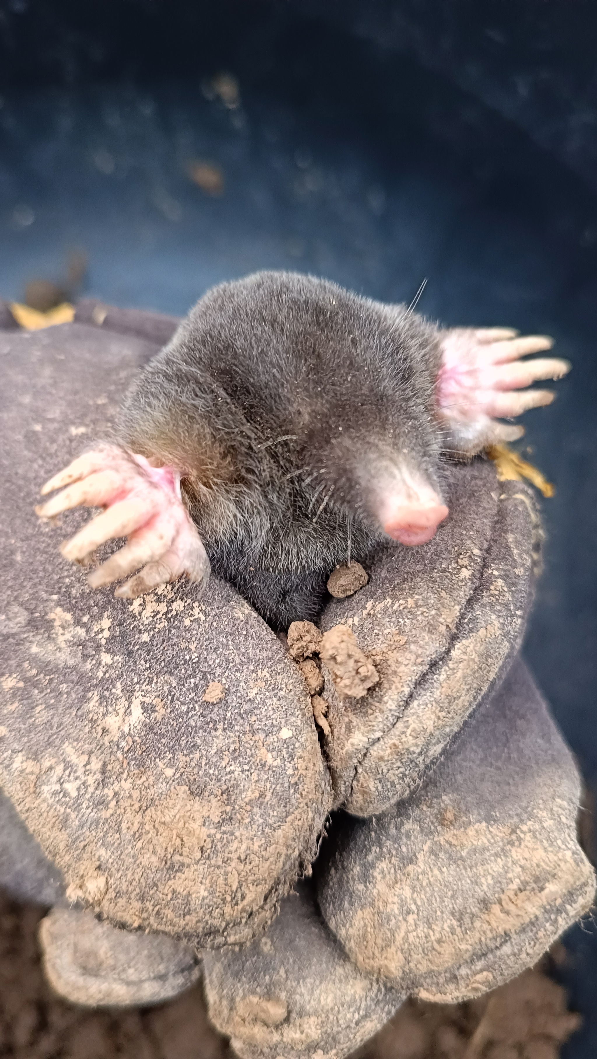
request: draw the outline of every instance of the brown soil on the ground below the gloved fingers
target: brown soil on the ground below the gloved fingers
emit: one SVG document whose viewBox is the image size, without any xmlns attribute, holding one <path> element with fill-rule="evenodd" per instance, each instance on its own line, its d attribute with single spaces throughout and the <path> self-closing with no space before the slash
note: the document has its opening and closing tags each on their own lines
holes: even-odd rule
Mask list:
<svg viewBox="0 0 597 1059">
<path fill-rule="evenodd" d="M 38 905 L 0 893 L 1 1059 L 232 1059 L 200 987 L 152 1008 L 90 1011 L 55 997 L 40 966 Z M 557 1059 L 580 1025 L 541 969 L 466 1004 L 408 1001 L 351 1059 Z"/>
</svg>

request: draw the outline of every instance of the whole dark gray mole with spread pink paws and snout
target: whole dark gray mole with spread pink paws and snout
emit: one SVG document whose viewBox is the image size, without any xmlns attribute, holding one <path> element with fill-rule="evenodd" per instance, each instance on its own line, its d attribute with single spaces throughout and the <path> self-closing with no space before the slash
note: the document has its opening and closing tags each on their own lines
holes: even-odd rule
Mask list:
<svg viewBox="0 0 597 1059">
<path fill-rule="evenodd" d="M 441 328 L 405 305 L 261 271 L 209 290 L 124 399 L 115 436 L 41 492 L 52 518 L 102 507 L 62 555 L 125 598 L 210 569 L 276 631 L 315 621 L 340 563 L 423 546 L 448 518 L 449 461 L 518 438 L 525 389 L 569 363 L 545 336 Z"/>
</svg>

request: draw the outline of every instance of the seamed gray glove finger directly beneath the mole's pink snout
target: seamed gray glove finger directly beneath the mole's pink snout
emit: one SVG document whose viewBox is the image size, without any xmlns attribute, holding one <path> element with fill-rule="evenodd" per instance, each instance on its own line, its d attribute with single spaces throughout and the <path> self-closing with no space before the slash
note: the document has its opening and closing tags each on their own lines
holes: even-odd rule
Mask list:
<svg viewBox="0 0 597 1059">
<path fill-rule="evenodd" d="M 451 518 L 424 548 L 387 549 L 369 582 L 324 613 L 374 662 L 365 698 L 338 694 L 324 665 L 325 741 L 336 804 L 368 816 L 408 797 L 499 684 L 532 602 L 541 528 L 521 482 L 475 461 L 447 474 Z"/>
</svg>

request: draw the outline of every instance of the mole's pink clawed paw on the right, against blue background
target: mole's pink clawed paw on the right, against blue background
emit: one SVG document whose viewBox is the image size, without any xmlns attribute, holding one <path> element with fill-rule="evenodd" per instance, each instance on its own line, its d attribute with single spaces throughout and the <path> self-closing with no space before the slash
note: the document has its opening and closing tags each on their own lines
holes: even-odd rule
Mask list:
<svg viewBox="0 0 597 1059">
<path fill-rule="evenodd" d="M 436 393 L 438 415 L 446 428 L 444 448 L 463 455 L 521 437 L 523 427 L 496 419 L 550 405 L 556 396 L 550 390 L 525 388 L 543 379 L 561 379 L 572 366 L 557 357 L 521 359 L 550 349 L 554 340 L 545 335 L 520 337 L 510 327 L 453 327 L 440 331 L 439 337 L 441 365 Z"/>
</svg>

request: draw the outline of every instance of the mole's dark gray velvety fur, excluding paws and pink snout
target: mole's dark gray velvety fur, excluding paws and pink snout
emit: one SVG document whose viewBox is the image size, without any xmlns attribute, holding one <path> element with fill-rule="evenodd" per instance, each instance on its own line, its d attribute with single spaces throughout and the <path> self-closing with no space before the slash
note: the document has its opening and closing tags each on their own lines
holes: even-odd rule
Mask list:
<svg viewBox="0 0 597 1059">
<path fill-rule="evenodd" d="M 259 272 L 210 290 L 128 394 L 120 439 L 183 473 L 214 572 L 274 628 L 382 539 L 384 474 L 440 492 L 439 331 L 404 306 Z"/>
</svg>

